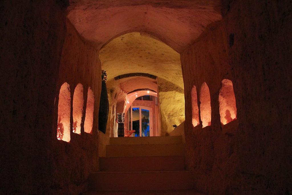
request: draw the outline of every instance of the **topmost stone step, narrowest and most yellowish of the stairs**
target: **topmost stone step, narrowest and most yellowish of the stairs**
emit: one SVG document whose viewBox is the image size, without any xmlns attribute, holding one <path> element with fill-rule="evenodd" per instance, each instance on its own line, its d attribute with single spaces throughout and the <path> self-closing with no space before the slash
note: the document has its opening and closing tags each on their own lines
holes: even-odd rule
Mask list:
<svg viewBox="0 0 292 195">
<path fill-rule="evenodd" d="M 126 144 L 181 144 L 181 136 L 167 137 L 111 137 L 111 145 L 126 145 Z"/>
</svg>

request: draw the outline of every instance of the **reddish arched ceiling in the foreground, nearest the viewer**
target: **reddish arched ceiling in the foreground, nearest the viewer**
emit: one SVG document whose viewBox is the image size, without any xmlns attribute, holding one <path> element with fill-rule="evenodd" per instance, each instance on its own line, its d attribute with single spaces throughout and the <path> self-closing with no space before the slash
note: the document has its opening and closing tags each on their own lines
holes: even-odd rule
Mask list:
<svg viewBox="0 0 292 195">
<path fill-rule="evenodd" d="M 70 0 L 68 18 L 100 49 L 128 32 L 145 32 L 177 52 L 221 19 L 221 0 Z"/>
</svg>

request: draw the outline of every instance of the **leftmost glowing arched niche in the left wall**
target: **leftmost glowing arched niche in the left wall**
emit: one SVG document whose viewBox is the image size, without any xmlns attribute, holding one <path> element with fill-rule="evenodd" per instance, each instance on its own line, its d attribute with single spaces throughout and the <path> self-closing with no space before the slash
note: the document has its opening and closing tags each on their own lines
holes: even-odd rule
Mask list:
<svg viewBox="0 0 292 195">
<path fill-rule="evenodd" d="M 70 87 L 68 83 L 64 83 L 59 94 L 57 139 L 67 142 L 70 141 L 70 102 Z"/>
</svg>

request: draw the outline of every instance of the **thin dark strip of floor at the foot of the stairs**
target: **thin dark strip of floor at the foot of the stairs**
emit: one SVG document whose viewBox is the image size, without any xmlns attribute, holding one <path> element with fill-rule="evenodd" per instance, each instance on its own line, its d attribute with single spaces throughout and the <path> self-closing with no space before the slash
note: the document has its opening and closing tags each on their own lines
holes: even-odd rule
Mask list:
<svg viewBox="0 0 292 195">
<path fill-rule="evenodd" d="M 84 195 L 204 195 L 196 190 L 151 190 L 151 191 L 98 191 L 86 192 Z"/>
</svg>

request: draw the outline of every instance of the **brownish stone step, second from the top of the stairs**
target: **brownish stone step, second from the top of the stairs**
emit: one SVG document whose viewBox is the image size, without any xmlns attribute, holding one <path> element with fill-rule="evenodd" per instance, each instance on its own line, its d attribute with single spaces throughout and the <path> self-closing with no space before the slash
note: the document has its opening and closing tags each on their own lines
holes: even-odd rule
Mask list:
<svg viewBox="0 0 292 195">
<path fill-rule="evenodd" d="M 184 144 L 107 145 L 106 148 L 106 157 L 184 155 Z"/>
</svg>

